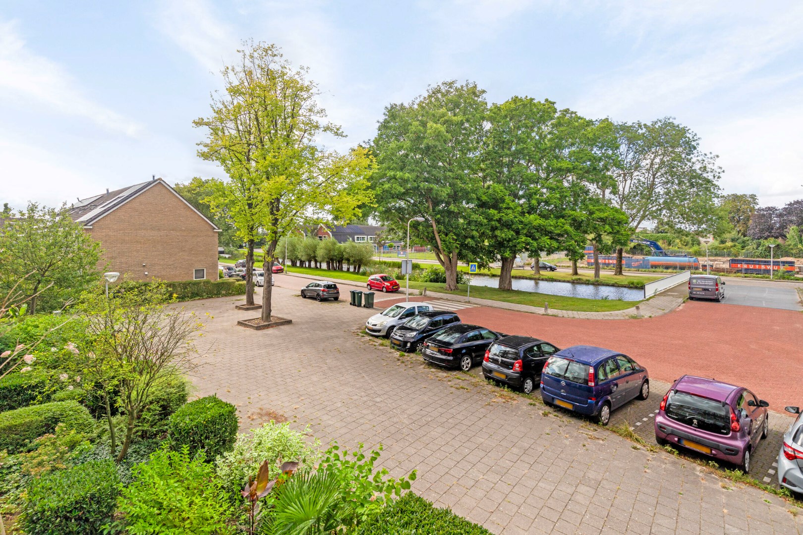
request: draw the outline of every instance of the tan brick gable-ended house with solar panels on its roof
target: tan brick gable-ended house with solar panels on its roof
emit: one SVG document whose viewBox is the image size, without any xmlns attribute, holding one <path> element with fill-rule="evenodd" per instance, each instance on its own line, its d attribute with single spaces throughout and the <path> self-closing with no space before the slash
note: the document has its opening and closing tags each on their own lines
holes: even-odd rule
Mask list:
<svg viewBox="0 0 803 535">
<path fill-rule="evenodd" d="M 79 199 L 71 217 L 128 280 L 218 280 L 220 229 L 161 178 Z"/>
</svg>

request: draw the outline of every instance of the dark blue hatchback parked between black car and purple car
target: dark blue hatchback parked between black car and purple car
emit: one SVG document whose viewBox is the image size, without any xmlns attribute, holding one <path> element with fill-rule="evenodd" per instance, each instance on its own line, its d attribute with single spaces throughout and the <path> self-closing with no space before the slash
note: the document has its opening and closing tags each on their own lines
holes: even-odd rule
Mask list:
<svg viewBox="0 0 803 535">
<path fill-rule="evenodd" d="M 613 409 L 649 395 L 647 371 L 627 355 L 601 347 L 567 347 L 541 372 L 544 403 L 594 416 L 602 425 L 608 425 Z"/>
</svg>

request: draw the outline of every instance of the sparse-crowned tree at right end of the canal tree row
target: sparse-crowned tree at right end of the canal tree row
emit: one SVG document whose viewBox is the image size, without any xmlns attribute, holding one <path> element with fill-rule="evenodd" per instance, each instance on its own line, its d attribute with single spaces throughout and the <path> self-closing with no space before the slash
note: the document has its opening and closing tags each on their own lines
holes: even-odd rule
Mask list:
<svg viewBox="0 0 803 535">
<path fill-rule="evenodd" d="M 721 168 L 701 152 L 695 132 L 671 117 L 618 124 L 619 151 L 609 200 L 628 217 L 630 233 L 647 221 L 689 229 L 713 225 Z M 622 274 L 622 247 L 616 274 Z"/>
</svg>

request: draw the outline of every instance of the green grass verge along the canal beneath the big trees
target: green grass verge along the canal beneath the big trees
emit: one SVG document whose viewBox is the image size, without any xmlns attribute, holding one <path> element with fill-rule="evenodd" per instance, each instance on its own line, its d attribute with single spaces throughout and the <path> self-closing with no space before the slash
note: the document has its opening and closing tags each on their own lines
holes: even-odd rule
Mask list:
<svg viewBox="0 0 803 535">
<path fill-rule="evenodd" d="M 315 268 L 289 267 L 290 273 L 313 275 L 320 278 L 333 278 L 354 282 L 366 282 L 367 277 L 349 271 L 317 270 Z M 402 286 L 404 282 L 399 281 Z M 456 292 L 447 292 L 443 283 L 437 282 L 412 282 L 410 289 L 419 290 L 423 287 L 434 292 L 444 294 L 466 295 L 467 286 L 459 285 Z M 519 305 L 529 305 L 543 307 L 544 302 L 549 303 L 549 308 L 557 310 L 577 310 L 578 312 L 609 312 L 611 310 L 625 310 L 631 306 L 638 305 L 638 301 L 620 301 L 613 299 L 583 299 L 567 298 L 560 295 L 536 294 L 535 292 L 522 292 L 518 290 L 499 290 L 488 288 L 487 286 L 471 286 L 471 296 L 475 298 L 491 299 L 493 301 L 512 302 Z"/>
</svg>

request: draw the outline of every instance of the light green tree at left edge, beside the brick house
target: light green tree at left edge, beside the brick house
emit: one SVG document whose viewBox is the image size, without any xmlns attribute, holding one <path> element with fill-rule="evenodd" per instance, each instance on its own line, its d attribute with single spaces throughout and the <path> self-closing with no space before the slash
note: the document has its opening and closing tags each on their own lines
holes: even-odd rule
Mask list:
<svg viewBox="0 0 803 535">
<path fill-rule="evenodd" d="M 30 203 L 0 227 L 0 293 L 17 285 L 29 314 L 59 309 L 100 281 L 100 253 L 66 205 Z"/>
</svg>

